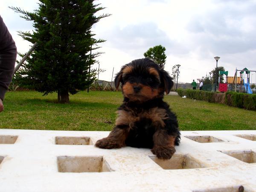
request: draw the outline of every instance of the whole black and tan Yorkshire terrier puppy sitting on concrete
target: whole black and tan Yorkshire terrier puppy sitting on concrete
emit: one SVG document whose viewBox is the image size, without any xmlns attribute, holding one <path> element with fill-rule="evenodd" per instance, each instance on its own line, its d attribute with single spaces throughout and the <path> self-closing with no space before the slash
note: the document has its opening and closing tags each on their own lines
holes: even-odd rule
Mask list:
<svg viewBox="0 0 256 192">
<path fill-rule="evenodd" d="M 116 89 L 120 83 L 124 101 L 116 126 L 95 146 L 151 148 L 158 158 L 170 159 L 180 142 L 177 117 L 163 102 L 164 92 L 168 94 L 173 86 L 172 78 L 154 61 L 143 58 L 122 67 L 116 74 Z"/>
</svg>

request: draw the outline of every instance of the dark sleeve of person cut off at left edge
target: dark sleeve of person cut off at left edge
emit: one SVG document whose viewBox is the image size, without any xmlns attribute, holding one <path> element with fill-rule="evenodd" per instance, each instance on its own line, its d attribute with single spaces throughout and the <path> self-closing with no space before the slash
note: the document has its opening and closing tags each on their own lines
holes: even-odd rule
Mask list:
<svg viewBox="0 0 256 192">
<path fill-rule="evenodd" d="M 12 81 L 16 57 L 15 42 L 0 16 L 0 99 L 2 101 Z"/>
</svg>

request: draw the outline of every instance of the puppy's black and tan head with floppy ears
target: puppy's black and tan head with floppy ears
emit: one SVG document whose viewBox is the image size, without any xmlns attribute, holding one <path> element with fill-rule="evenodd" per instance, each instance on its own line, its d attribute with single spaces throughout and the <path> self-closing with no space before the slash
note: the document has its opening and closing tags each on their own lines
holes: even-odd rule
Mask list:
<svg viewBox="0 0 256 192">
<path fill-rule="evenodd" d="M 149 58 L 131 61 L 116 74 L 115 86 L 132 102 L 145 102 L 168 94 L 173 86 L 169 74 Z"/>
</svg>

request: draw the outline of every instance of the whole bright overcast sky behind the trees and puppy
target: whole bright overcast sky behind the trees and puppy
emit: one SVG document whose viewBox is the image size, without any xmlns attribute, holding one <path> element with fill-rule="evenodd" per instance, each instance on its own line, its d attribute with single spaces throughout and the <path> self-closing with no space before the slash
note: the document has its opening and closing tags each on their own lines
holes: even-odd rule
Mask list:
<svg viewBox="0 0 256 192">
<path fill-rule="evenodd" d="M 32 30 L 32 23 L 8 6 L 26 11 L 38 7 L 37 0 L 1 0 L 0 15 L 11 32 L 19 52 L 29 43 L 17 31 Z M 182 82 L 209 75 L 218 66 L 234 76 L 236 67 L 256 70 L 256 0 L 98 0 L 109 13 L 93 26 L 96 38 L 107 40 L 99 49 L 99 79 L 111 81 L 112 70 L 137 58 L 155 45 L 166 48 L 166 67 L 180 64 Z M 96 66 L 95 66 L 96 67 Z M 256 82 L 256 73 L 252 73 Z"/>
</svg>

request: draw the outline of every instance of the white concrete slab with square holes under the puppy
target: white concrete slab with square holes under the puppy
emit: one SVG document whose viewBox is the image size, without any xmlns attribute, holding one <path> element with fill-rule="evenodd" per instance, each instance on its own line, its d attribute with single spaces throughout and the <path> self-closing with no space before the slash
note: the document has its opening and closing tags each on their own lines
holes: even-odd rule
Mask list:
<svg viewBox="0 0 256 192">
<path fill-rule="evenodd" d="M 256 131 L 181 131 L 171 160 L 108 133 L 0 129 L 0 192 L 256 192 Z"/>
</svg>

